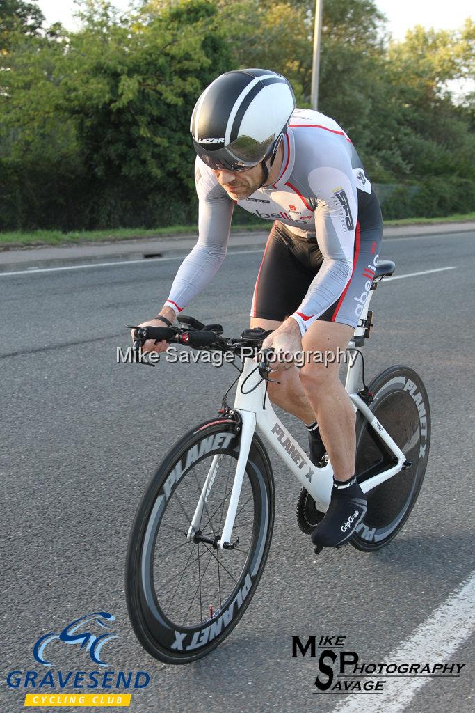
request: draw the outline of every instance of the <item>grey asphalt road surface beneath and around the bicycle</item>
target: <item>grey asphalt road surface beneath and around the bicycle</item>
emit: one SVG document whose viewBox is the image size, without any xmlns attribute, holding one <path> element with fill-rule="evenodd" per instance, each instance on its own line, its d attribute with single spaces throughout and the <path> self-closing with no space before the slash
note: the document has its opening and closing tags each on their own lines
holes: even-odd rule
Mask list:
<svg viewBox="0 0 475 713">
<path fill-rule="evenodd" d="M 315 699 L 317 660 L 292 658 L 291 637 L 345 636 L 361 661 L 382 662 L 469 578 L 475 234 L 388 239 L 383 248 L 395 275 L 456 268 L 387 282 L 372 301 L 367 374 L 409 364 L 431 401 L 431 453 L 417 506 L 379 553 L 347 547 L 315 557 L 296 525 L 298 484 L 271 454 L 276 524 L 261 584 L 226 642 L 186 667 L 162 665 L 135 640 L 125 549 L 155 465 L 185 430 L 216 414 L 235 372 L 116 364 L 125 324 L 155 314 L 179 260 L 0 277 L 2 711 L 23 709 L 25 689 L 8 689 L 5 677 L 42 668 L 34 642 L 98 610 L 117 617 L 119 637 L 108 645 L 113 669 L 150 673 L 150 686 L 132 694 L 134 713 L 343 711 L 349 697 Z M 259 263 L 257 252 L 229 255 L 187 312 L 237 336 L 247 326 Z M 283 421 L 296 434 L 301 428 Z M 457 631 L 443 625 L 450 642 Z M 466 663 L 461 676 L 429 680 L 404 711 L 475 709 L 474 635 L 452 648 L 447 660 Z M 75 647 L 58 648 L 57 656 L 62 670 L 92 664 Z M 391 703 L 382 710 L 399 710 L 387 691 Z"/>
</svg>

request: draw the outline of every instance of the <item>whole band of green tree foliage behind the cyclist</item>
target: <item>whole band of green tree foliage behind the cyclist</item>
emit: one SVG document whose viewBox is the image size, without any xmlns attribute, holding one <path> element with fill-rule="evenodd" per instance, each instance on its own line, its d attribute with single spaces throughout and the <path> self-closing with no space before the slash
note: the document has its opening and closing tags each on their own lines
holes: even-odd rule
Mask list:
<svg viewBox="0 0 475 713">
<path fill-rule="evenodd" d="M 374 181 L 387 217 L 474 210 L 474 23 L 385 34 L 373 0 L 325 0 L 320 111 Z M 189 117 L 219 73 L 263 66 L 310 106 L 313 0 L 81 0 L 81 29 L 45 27 L 34 2 L 0 11 L 0 228 L 192 220 Z M 406 188 L 406 185 L 416 188 Z"/>
</svg>

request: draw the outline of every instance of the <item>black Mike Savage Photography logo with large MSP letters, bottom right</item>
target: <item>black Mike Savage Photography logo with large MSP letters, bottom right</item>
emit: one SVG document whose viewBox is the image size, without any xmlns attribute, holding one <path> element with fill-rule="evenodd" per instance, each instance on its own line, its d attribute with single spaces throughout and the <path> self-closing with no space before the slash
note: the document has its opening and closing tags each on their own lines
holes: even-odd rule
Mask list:
<svg viewBox="0 0 475 713">
<path fill-rule="evenodd" d="M 292 637 L 292 657 L 317 660 L 313 681 L 316 694 L 382 695 L 390 689 L 391 679 L 401 677 L 458 678 L 466 664 L 410 661 L 364 662 L 356 651 L 348 650 L 345 636 Z"/>
</svg>

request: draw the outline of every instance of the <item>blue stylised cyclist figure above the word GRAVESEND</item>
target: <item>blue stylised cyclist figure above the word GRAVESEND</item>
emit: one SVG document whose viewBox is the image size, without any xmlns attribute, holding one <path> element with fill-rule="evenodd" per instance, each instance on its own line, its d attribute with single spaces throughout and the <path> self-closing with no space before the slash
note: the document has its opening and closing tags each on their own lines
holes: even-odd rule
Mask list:
<svg viewBox="0 0 475 713">
<path fill-rule="evenodd" d="M 64 627 L 60 634 L 45 634 L 42 636 L 36 644 L 33 646 L 33 656 L 38 663 L 43 664 L 43 666 L 52 666 L 53 664 L 46 660 L 45 649 L 48 644 L 54 640 L 63 642 L 64 644 L 79 644 L 81 650 L 89 652 L 89 655 L 93 662 L 100 666 L 109 666 L 100 657 L 100 650 L 102 649 L 105 642 L 111 639 L 117 639 L 116 634 L 106 633 L 96 636 L 92 632 L 85 629 L 86 625 L 90 622 L 95 622 L 98 626 L 103 629 L 108 629 L 108 622 L 115 621 L 115 616 L 108 614 L 108 612 L 95 612 L 95 614 L 88 614 L 79 619 L 75 619 L 71 624 Z"/>
</svg>

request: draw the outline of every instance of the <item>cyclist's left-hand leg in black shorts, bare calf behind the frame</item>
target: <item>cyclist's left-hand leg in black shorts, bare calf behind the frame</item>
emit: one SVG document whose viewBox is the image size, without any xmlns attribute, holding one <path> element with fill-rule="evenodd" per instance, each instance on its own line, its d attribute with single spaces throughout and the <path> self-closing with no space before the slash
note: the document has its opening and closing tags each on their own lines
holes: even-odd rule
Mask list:
<svg viewBox="0 0 475 713">
<path fill-rule="evenodd" d="M 251 328 L 277 329 L 301 303 L 314 275 L 288 249 L 288 237 L 278 221 L 269 234 L 259 268 L 251 306 Z M 277 406 L 305 424 L 315 421 L 298 369 L 279 371 L 280 384 L 268 384 L 268 396 Z"/>
</svg>

